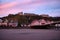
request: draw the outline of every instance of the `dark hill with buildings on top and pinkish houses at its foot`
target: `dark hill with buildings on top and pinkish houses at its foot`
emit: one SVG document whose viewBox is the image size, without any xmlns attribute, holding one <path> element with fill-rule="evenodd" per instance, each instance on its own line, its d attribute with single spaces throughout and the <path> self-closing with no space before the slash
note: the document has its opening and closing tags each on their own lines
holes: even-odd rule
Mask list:
<svg viewBox="0 0 60 40">
<path fill-rule="evenodd" d="M 49 15 L 42 14 L 36 15 L 33 13 L 9 14 L 6 17 L 0 18 L 0 27 L 31 27 L 35 25 L 47 25 L 59 21 L 60 17 L 50 17 Z M 58 26 L 60 24 L 56 24 Z"/>
</svg>

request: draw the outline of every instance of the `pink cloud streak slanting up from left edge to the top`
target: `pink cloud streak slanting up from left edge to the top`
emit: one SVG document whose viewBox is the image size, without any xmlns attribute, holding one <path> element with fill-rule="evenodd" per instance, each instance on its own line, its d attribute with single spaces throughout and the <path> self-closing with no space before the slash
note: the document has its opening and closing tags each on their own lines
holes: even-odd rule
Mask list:
<svg viewBox="0 0 60 40">
<path fill-rule="evenodd" d="M 24 1 L 22 1 L 22 2 L 20 2 L 20 1 L 18 1 L 18 0 L 15 0 L 15 1 L 10 2 L 10 3 L 1 4 L 1 5 L 0 5 L 0 9 L 11 8 L 11 7 L 14 7 L 14 6 L 16 6 L 16 5 L 23 5 L 23 4 L 27 4 L 27 3 L 29 3 L 29 2 L 30 2 L 30 0 L 29 0 L 29 1 L 24 0 Z"/>
</svg>

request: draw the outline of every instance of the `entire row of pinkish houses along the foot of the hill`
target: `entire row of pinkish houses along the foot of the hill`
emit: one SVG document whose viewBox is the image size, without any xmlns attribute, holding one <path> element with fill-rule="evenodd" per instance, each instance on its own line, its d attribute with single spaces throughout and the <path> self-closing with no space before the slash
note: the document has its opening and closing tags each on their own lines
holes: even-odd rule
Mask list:
<svg viewBox="0 0 60 40">
<path fill-rule="evenodd" d="M 37 25 L 48 25 L 54 23 L 54 21 L 40 19 L 40 20 L 33 20 L 30 24 L 21 24 L 20 27 L 31 27 L 31 26 L 37 26 Z M 18 27 L 18 21 L 14 20 L 2 20 L 0 19 L 0 27 Z M 55 24 L 55 26 L 60 26 L 60 24 Z"/>
</svg>

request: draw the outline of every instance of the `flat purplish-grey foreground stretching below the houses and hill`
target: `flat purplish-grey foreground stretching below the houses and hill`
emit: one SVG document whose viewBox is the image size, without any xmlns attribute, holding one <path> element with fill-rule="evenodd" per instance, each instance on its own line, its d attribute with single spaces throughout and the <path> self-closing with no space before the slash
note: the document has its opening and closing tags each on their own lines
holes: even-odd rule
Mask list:
<svg viewBox="0 0 60 40">
<path fill-rule="evenodd" d="M 0 29 L 0 40 L 60 40 L 60 30 Z"/>
</svg>

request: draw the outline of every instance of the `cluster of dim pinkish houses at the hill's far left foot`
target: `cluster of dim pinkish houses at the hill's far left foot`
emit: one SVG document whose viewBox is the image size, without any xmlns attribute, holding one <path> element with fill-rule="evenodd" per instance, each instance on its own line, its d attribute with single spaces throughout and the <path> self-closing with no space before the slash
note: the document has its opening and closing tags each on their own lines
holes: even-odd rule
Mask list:
<svg viewBox="0 0 60 40">
<path fill-rule="evenodd" d="M 0 19 L 0 27 L 16 27 L 18 25 L 18 22 L 15 22 L 14 20 L 9 20 L 7 19 Z"/>
</svg>

